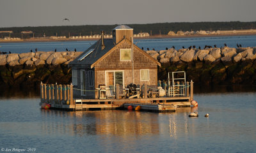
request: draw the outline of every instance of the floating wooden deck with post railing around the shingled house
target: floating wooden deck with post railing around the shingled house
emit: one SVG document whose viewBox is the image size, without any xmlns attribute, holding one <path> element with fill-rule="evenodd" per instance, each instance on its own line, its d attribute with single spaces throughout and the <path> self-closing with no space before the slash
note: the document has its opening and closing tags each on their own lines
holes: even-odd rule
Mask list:
<svg viewBox="0 0 256 153">
<path fill-rule="evenodd" d="M 189 85 L 188 85 L 189 84 Z M 142 93 L 139 98 L 124 98 L 120 96 L 121 91 L 116 87 L 116 95 L 106 99 L 81 99 L 73 97 L 73 85 L 42 84 L 40 85 L 41 102 L 51 104 L 52 109 L 68 111 L 88 111 L 88 110 L 113 110 L 117 108 L 127 108 L 127 106 L 141 106 L 141 110 L 153 112 L 175 112 L 177 107 L 190 106 L 193 100 L 193 82 L 187 82 L 184 88 L 175 89 L 179 96 L 149 96 L 150 87 L 144 85 L 140 89 Z M 190 90 L 189 90 L 190 89 Z M 125 89 L 124 89 L 125 91 Z M 190 91 L 190 93 L 189 93 Z M 180 96 L 183 93 L 183 96 Z"/>
</svg>

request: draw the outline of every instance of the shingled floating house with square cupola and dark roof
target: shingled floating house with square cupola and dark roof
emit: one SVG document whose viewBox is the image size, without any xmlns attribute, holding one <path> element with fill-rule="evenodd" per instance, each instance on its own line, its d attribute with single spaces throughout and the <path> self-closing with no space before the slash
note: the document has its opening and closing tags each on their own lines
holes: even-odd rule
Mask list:
<svg viewBox="0 0 256 153">
<path fill-rule="evenodd" d="M 114 95 L 116 85 L 157 85 L 157 66 L 161 64 L 133 43 L 133 29 L 118 25 L 113 39 L 101 38 L 70 62 L 74 98 L 97 99 L 104 87 Z"/>
</svg>

